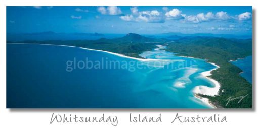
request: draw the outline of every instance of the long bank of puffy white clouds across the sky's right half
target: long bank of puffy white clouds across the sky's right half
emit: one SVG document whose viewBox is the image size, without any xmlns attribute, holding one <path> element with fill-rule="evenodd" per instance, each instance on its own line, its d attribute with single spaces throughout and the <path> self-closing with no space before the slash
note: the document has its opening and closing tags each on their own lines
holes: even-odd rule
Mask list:
<svg viewBox="0 0 258 128">
<path fill-rule="evenodd" d="M 179 9 L 172 9 L 168 10 L 167 7 L 163 7 L 162 9 L 166 11 L 165 13 L 159 12 L 157 10 L 152 11 L 141 11 L 139 12 L 137 7 L 132 7 L 131 14 L 127 14 L 125 16 L 121 16 L 120 19 L 124 21 L 144 21 L 144 22 L 150 22 L 150 23 L 162 23 L 165 22 L 165 20 L 180 20 L 183 23 L 201 23 L 201 22 L 209 22 L 209 21 L 228 21 L 228 20 L 247 20 L 251 18 L 251 13 L 245 12 L 239 15 L 236 15 L 235 17 L 230 16 L 227 12 L 207 12 L 205 13 L 199 13 L 196 15 L 186 15 L 182 14 L 182 11 Z M 229 28 L 232 28 L 229 27 Z M 216 28 L 216 30 L 221 30 L 222 28 Z M 225 28 L 224 28 L 225 29 Z"/>
</svg>

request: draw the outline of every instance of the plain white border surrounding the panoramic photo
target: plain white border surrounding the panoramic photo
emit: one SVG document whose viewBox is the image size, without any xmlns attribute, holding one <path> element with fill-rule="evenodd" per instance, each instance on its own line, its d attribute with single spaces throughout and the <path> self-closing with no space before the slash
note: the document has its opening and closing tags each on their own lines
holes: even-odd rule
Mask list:
<svg viewBox="0 0 258 128">
<path fill-rule="evenodd" d="M 178 127 L 185 125 L 185 127 L 246 127 L 256 125 L 257 112 L 256 108 L 251 110 L 10 110 L 6 109 L 6 6 L 253 6 L 253 17 L 257 17 L 256 9 L 257 2 L 254 0 L 242 0 L 242 1 L 214 1 L 214 0 L 94 0 L 94 1 L 32 1 L 32 0 L 9 0 L 0 2 L 0 127 L 114 127 L 110 124 L 50 124 L 50 118 L 52 112 L 66 113 L 66 114 L 78 114 L 85 116 L 96 116 L 105 113 L 111 116 L 117 115 L 118 126 L 116 127 Z M 17 12 L 18 13 L 18 12 Z M 253 23 L 256 24 L 256 23 Z M 256 30 L 256 26 L 253 27 Z M 253 40 L 256 42 L 255 40 Z M 257 45 L 255 45 L 257 49 Z M 253 55 L 253 56 L 256 56 Z M 257 63 L 257 60 L 255 60 Z M 256 73 L 256 70 L 253 71 Z M 256 75 L 254 75 L 256 79 Z M 255 82 L 255 81 L 254 81 Z M 257 85 L 255 82 L 253 85 Z M 255 96 L 255 90 L 253 89 Z M 253 105 L 255 106 L 256 97 L 253 97 Z M 170 123 L 171 119 L 175 116 L 175 113 L 179 112 L 183 116 L 194 116 L 194 115 L 212 115 L 220 114 L 221 116 L 227 116 L 228 123 Z M 130 123 L 128 121 L 128 114 L 143 114 L 143 115 L 158 115 L 162 114 L 162 123 Z"/>
</svg>

